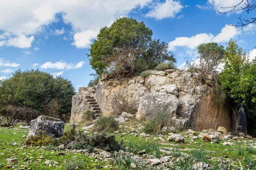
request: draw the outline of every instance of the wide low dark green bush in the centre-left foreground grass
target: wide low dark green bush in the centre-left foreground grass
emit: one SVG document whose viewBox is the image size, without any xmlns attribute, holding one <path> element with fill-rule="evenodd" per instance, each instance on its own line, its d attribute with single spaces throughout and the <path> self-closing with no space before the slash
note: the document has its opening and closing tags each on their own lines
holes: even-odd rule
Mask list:
<svg viewBox="0 0 256 170">
<path fill-rule="evenodd" d="M 108 152 L 114 152 L 116 150 L 124 150 L 125 145 L 122 141 L 120 143 L 117 142 L 115 135 L 96 133 L 92 136 L 88 136 L 88 134 L 84 134 L 82 131 L 79 131 L 76 135 L 72 149 L 87 149 L 92 152 L 94 147 Z"/>
</svg>

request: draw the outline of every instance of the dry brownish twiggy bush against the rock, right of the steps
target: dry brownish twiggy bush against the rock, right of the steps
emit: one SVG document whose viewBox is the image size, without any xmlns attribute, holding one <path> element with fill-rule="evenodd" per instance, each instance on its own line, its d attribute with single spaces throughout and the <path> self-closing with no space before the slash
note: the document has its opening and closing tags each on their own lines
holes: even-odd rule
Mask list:
<svg viewBox="0 0 256 170">
<path fill-rule="evenodd" d="M 111 110 L 113 115 L 121 115 L 122 112 L 134 114 L 137 112 L 137 105 L 133 101 L 129 101 L 122 89 L 113 94 L 107 101 L 106 107 Z"/>
</svg>

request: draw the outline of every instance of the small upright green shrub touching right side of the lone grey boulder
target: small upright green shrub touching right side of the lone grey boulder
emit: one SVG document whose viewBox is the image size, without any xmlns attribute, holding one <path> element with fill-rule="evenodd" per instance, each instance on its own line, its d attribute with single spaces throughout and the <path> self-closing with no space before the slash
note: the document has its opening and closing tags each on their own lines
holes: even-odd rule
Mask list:
<svg viewBox="0 0 256 170">
<path fill-rule="evenodd" d="M 75 140 L 76 137 L 76 125 L 73 123 L 71 128 L 63 133 L 63 136 L 58 138 L 58 145 L 64 144 L 65 146 Z"/>
</svg>

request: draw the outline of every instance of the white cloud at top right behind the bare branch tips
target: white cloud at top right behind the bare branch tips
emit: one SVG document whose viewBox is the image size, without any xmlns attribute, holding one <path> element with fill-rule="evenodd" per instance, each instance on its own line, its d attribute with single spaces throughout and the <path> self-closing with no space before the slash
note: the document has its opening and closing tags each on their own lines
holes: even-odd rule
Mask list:
<svg viewBox="0 0 256 170">
<path fill-rule="evenodd" d="M 231 6 L 234 6 L 234 5 L 238 5 L 241 2 L 241 0 L 208 0 L 207 2 L 216 11 L 226 12 L 226 11 L 230 11 L 231 9 L 233 9 L 233 8 L 227 9 L 226 7 L 231 7 Z M 241 3 L 241 5 L 239 5 L 237 7 L 237 9 L 240 8 L 243 5 L 244 5 L 244 3 Z M 242 10 L 241 11 L 234 11 L 234 12 L 238 14 L 238 13 L 241 13 Z"/>
</svg>

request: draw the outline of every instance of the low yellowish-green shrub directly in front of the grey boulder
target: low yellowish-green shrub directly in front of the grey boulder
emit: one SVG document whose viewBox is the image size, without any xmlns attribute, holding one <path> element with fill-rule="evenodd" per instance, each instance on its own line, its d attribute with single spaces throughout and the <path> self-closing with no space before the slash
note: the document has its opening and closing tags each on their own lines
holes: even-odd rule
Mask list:
<svg viewBox="0 0 256 170">
<path fill-rule="evenodd" d="M 56 141 L 52 136 L 47 136 L 46 132 L 40 130 L 37 136 L 30 136 L 28 140 L 25 141 L 26 145 L 33 146 L 48 146 L 50 144 L 55 144 Z"/>
</svg>

